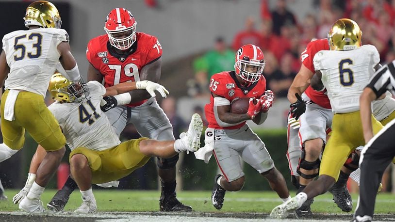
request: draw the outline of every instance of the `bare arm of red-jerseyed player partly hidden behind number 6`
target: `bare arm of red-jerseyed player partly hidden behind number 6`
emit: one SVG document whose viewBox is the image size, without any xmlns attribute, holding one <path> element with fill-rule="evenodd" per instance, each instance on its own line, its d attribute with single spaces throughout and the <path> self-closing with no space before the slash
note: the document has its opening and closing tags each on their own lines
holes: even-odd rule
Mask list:
<svg viewBox="0 0 395 222">
<path fill-rule="evenodd" d="M 304 64 L 300 66 L 299 72 L 296 74 L 296 77 L 288 90 L 288 100 L 290 103 L 296 102 L 297 98 L 295 94 L 302 95 L 307 87 L 309 87 L 313 75 L 314 73 Z"/>
</svg>

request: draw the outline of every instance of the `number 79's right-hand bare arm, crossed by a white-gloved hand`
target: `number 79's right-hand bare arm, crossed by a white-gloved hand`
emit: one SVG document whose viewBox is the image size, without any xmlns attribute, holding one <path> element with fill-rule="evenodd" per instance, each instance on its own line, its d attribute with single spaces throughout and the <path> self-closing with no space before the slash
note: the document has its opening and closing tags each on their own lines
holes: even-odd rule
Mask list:
<svg viewBox="0 0 395 222">
<path fill-rule="evenodd" d="M 149 80 L 158 82 L 161 79 L 162 58 L 159 58 L 153 63 L 145 65 L 140 71 L 140 81 Z M 148 99 L 151 95 L 146 90 L 134 90 L 129 92 L 132 97 L 131 102 L 138 102 Z"/>
</svg>

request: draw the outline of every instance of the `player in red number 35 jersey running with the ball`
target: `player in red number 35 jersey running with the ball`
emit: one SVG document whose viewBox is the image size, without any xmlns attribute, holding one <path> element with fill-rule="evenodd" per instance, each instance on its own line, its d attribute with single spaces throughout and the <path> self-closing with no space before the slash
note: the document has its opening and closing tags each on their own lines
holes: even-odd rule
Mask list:
<svg viewBox="0 0 395 222">
<path fill-rule="evenodd" d="M 251 119 L 262 124 L 273 103 L 273 93 L 265 91 L 264 64 L 262 50 L 254 45 L 245 45 L 236 52 L 235 71 L 217 73 L 210 81 L 212 96 L 205 106 L 209 122 L 205 143 L 210 147 L 208 152 L 213 151 L 222 172 L 214 179 L 212 203 L 216 209 L 222 208 L 226 190 L 243 188 L 245 179 L 240 156 L 269 181 L 280 198 L 284 201 L 290 198 L 285 179 L 274 166 L 264 143 L 246 124 Z M 247 113 L 231 113 L 231 101 L 244 97 L 250 98 Z"/>
</svg>

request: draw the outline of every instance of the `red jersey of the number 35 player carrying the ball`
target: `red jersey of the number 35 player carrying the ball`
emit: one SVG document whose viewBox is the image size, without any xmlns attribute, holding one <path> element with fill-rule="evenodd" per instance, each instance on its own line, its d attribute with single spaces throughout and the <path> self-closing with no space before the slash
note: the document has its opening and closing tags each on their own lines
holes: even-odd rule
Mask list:
<svg viewBox="0 0 395 222">
<path fill-rule="evenodd" d="M 257 82 L 254 82 L 248 87 L 242 87 L 236 79 L 235 71 L 227 71 L 214 74 L 210 79 L 210 91 L 222 96 L 232 102 L 235 98 L 255 97 L 259 98 L 266 90 L 266 79 L 262 76 Z M 243 123 L 232 127 L 220 127 L 217 124 L 214 116 L 214 97 L 210 97 L 210 103 L 204 107 L 206 119 L 209 122 L 209 127 L 214 129 L 238 129 L 246 124 Z"/>
</svg>

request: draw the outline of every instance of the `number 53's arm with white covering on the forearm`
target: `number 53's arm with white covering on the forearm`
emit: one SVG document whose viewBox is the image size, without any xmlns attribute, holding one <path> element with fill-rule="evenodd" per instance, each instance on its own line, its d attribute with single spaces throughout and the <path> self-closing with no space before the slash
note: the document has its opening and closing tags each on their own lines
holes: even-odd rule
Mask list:
<svg viewBox="0 0 395 222">
<path fill-rule="evenodd" d="M 57 49 L 60 54 L 59 61 L 66 70 L 66 78 L 72 81 L 77 81 L 80 79 L 80 71 L 78 70 L 78 65 L 74 59 L 74 56 L 71 54 L 70 45 L 68 42 L 61 42 Z"/>
</svg>

